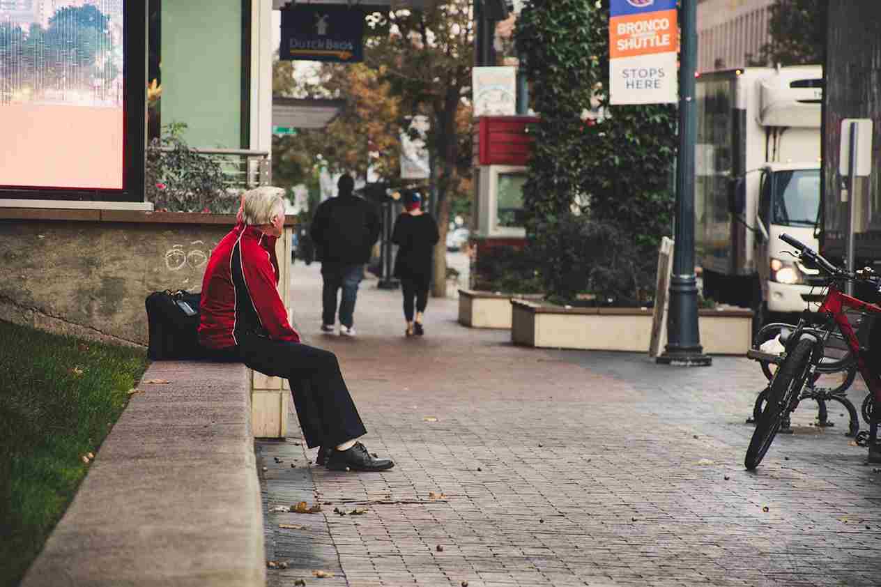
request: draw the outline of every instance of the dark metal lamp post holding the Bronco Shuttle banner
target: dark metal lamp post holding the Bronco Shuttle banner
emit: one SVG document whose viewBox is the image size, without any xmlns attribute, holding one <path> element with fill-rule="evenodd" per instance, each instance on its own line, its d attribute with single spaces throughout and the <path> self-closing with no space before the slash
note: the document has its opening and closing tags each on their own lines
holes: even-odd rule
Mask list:
<svg viewBox="0 0 881 587">
<path fill-rule="evenodd" d="M 676 166 L 676 226 L 673 276 L 670 279 L 670 316 L 667 348 L 657 362 L 667 365 L 707 366 L 713 359 L 703 352 L 698 331 L 698 286 L 694 275 L 694 143 L 697 104 L 697 4 L 682 0 L 682 47 L 679 53 L 679 151 Z"/>
</svg>

